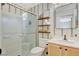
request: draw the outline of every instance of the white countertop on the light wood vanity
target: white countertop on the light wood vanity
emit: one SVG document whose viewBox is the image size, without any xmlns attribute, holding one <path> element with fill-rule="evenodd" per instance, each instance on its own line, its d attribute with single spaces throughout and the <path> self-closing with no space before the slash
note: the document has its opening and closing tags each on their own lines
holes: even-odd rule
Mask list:
<svg viewBox="0 0 79 59">
<path fill-rule="evenodd" d="M 48 43 L 55 43 L 60 45 L 65 45 L 69 47 L 79 48 L 79 40 L 55 40 L 51 39 Z"/>
</svg>

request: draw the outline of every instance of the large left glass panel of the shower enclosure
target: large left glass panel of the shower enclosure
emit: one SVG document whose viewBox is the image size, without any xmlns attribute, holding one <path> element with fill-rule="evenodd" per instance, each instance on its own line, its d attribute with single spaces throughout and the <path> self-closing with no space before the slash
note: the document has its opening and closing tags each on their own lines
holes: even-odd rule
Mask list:
<svg viewBox="0 0 79 59">
<path fill-rule="evenodd" d="M 21 54 L 21 35 L 22 17 L 2 13 L 2 50 L 6 52 L 6 55 Z"/>
</svg>

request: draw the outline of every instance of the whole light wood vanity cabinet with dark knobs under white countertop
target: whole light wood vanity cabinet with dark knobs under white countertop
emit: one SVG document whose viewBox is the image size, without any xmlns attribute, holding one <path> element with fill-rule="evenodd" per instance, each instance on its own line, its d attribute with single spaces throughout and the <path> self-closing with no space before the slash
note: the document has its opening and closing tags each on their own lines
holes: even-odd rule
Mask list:
<svg viewBox="0 0 79 59">
<path fill-rule="evenodd" d="M 74 47 L 49 43 L 48 55 L 49 56 L 79 56 L 79 49 Z"/>
</svg>

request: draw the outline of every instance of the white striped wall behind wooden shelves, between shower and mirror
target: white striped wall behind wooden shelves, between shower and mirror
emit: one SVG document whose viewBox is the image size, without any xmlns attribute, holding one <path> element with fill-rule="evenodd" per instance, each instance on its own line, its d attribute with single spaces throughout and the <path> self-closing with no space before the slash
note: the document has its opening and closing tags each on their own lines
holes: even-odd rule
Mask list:
<svg viewBox="0 0 79 59">
<path fill-rule="evenodd" d="M 49 6 L 49 7 L 47 7 L 47 6 Z M 51 10 L 50 10 L 50 8 L 51 8 Z M 44 17 L 46 17 L 46 16 L 49 16 L 50 17 L 50 19 L 49 19 L 49 21 L 50 21 L 50 27 L 49 27 L 49 32 L 51 31 L 51 34 L 49 34 L 49 38 L 52 38 L 53 37 L 53 19 L 54 19 L 54 17 L 53 17 L 53 12 L 54 12 L 54 5 L 52 4 L 52 3 L 40 3 L 40 4 L 38 4 L 37 6 L 35 6 L 35 7 L 33 7 L 33 8 L 31 8 L 31 9 L 29 9 L 28 11 L 29 12 L 32 12 L 32 13 L 34 13 L 34 14 L 36 14 L 36 15 L 38 15 L 37 16 L 37 19 L 38 19 L 38 17 L 40 16 L 40 15 L 42 15 L 42 12 L 44 13 Z M 48 9 L 50 10 L 50 11 L 48 11 Z M 43 11 L 42 11 L 43 10 Z M 38 25 L 41 25 L 42 24 L 42 21 L 38 21 L 37 20 L 37 23 L 38 23 Z M 42 28 L 39 28 L 39 30 L 41 30 Z M 44 27 L 44 29 L 46 29 L 46 27 Z M 38 27 L 37 27 L 37 31 L 38 31 Z M 38 34 L 39 36 L 38 36 L 38 38 L 42 38 L 42 33 L 39 33 Z M 44 34 L 44 36 L 43 36 L 44 38 L 47 38 L 48 37 L 48 34 Z"/>
</svg>

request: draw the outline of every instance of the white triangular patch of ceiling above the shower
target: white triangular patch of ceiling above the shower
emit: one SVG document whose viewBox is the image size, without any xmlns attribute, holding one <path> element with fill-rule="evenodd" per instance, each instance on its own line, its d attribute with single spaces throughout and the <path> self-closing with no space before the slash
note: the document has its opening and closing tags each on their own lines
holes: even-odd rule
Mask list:
<svg viewBox="0 0 79 59">
<path fill-rule="evenodd" d="M 37 5 L 38 3 L 13 3 L 13 4 L 16 5 L 17 7 L 28 10 L 28 9 L 34 7 L 35 5 Z"/>
</svg>

